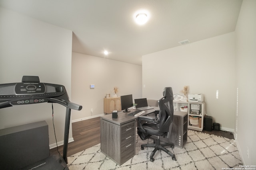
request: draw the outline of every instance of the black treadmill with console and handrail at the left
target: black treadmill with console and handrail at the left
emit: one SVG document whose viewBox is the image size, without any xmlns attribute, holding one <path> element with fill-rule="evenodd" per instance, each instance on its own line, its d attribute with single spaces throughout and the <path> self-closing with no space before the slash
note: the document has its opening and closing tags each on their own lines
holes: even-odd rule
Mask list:
<svg viewBox="0 0 256 170">
<path fill-rule="evenodd" d="M 71 109 L 81 110 L 82 106 L 70 102 L 66 88 L 59 84 L 42 83 L 38 76 L 23 76 L 22 82 L 0 84 L 0 109 L 14 105 L 58 103 L 66 107 L 63 154 L 23 167 L 22 170 L 68 170 L 67 152 Z"/>
</svg>

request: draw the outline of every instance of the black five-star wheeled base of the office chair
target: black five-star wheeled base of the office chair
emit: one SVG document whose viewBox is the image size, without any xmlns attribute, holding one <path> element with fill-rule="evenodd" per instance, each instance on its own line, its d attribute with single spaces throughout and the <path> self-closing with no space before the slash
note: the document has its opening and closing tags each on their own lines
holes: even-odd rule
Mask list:
<svg viewBox="0 0 256 170">
<path fill-rule="evenodd" d="M 176 160 L 175 158 L 175 155 L 170 151 L 170 150 L 167 150 L 166 146 L 170 146 L 171 148 L 174 148 L 174 144 L 173 143 L 160 143 L 160 138 L 158 136 L 157 139 L 154 139 L 154 143 L 150 143 L 150 144 L 142 144 L 141 145 L 141 150 L 144 150 L 144 147 L 153 147 L 155 148 L 151 154 L 150 154 L 150 161 L 153 162 L 154 161 L 154 158 L 153 156 L 155 155 L 156 151 L 157 150 L 163 150 L 164 152 L 166 152 L 168 155 L 172 156 L 172 160 Z"/>
</svg>

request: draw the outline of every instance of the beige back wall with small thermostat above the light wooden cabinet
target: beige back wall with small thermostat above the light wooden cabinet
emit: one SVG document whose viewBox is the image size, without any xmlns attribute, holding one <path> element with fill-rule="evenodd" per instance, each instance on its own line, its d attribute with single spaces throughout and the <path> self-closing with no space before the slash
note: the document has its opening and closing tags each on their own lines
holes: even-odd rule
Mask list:
<svg viewBox="0 0 256 170">
<path fill-rule="evenodd" d="M 90 89 L 90 84 L 95 88 Z M 142 66 L 72 53 L 72 102 L 83 106 L 81 111 L 73 111 L 73 121 L 102 115 L 104 96 L 113 96 L 114 86 L 118 87 L 119 96 L 132 94 L 133 100 L 141 98 Z"/>
</svg>

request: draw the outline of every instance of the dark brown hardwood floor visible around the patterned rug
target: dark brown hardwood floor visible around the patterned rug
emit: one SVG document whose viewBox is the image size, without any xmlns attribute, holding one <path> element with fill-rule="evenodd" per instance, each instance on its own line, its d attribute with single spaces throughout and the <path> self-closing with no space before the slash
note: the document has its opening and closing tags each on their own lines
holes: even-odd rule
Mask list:
<svg viewBox="0 0 256 170">
<path fill-rule="evenodd" d="M 226 131 L 202 131 L 210 135 L 217 135 L 234 139 L 234 135 Z M 68 143 L 67 156 L 71 156 L 77 152 L 88 149 L 100 143 L 100 117 L 87 119 L 72 123 L 72 133 L 74 142 Z M 58 150 L 62 155 L 63 146 L 59 146 Z M 50 155 L 58 154 L 57 148 L 50 149 Z"/>
</svg>

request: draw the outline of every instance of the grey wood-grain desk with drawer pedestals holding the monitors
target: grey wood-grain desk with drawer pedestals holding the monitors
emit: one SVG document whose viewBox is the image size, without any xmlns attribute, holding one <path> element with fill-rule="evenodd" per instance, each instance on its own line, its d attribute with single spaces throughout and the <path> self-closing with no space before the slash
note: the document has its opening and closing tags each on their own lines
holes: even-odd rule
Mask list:
<svg viewBox="0 0 256 170">
<path fill-rule="evenodd" d="M 159 107 L 144 110 L 145 113 L 142 115 L 150 114 L 157 109 L 159 109 Z M 133 111 L 135 110 L 131 110 L 131 112 Z M 137 117 L 129 116 L 128 114 L 131 112 L 120 111 L 116 119 L 112 119 L 112 114 L 100 117 L 100 150 L 118 165 L 123 164 L 135 155 Z M 174 111 L 174 119 L 180 116 L 182 118 L 187 117 L 188 113 L 184 112 L 183 114 L 180 113 L 180 111 Z M 178 127 L 182 127 L 183 131 L 183 123 Z M 177 133 L 180 131 L 175 130 L 175 132 L 176 134 L 171 133 L 171 136 L 179 136 Z M 181 132 L 181 134 L 183 135 L 183 132 Z M 185 133 L 185 135 L 187 135 L 187 133 Z M 184 142 L 182 142 L 182 144 L 184 144 Z M 174 145 L 176 144 L 174 143 Z"/>
</svg>

